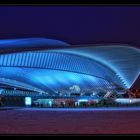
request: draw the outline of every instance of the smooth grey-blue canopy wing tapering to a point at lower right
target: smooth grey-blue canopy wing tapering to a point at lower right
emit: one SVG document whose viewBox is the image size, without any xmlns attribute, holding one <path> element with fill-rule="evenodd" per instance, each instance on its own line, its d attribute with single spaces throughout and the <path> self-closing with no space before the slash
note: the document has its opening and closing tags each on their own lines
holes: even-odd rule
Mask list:
<svg viewBox="0 0 140 140">
<path fill-rule="evenodd" d="M 57 50 L 56 50 L 57 51 Z M 91 58 L 110 67 L 127 88 L 140 74 L 140 49 L 127 45 L 85 45 L 75 49 L 63 49 L 64 53 Z"/>
</svg>

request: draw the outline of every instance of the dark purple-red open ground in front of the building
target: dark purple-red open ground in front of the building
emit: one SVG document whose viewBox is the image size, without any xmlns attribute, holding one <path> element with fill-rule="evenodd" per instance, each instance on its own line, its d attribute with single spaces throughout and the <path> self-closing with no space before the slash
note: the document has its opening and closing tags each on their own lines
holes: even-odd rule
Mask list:
<svg viewBox="0 0 140 140">
<path fill-rule="evenodd" d="M 140 108 L 1 109 L 0 134 L 140 134 Z"/>
</svg>

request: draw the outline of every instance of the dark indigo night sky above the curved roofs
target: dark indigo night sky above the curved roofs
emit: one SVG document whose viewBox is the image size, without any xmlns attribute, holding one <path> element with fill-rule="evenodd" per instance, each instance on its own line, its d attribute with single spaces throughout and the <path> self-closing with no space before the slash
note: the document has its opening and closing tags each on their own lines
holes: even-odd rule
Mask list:
<svg viewBox="0 0 140 140">
<path fill-rule="evenodd" d="M 0 38 L 25 37 L 140 47 L 140 6 L 0 6 Z"/>
</svg>

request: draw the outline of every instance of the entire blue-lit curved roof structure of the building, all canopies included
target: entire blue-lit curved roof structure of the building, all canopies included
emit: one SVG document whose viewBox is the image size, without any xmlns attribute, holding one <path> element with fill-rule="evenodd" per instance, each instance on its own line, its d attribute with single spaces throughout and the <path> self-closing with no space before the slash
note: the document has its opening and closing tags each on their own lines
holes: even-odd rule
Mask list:
<svg viewBox="0 0 140 140">
<path fill-rule="evenodd" d="M 0 84 L 54 94 L 81 89 L 127 89 L 140 74 L 140 50 L 44 39 L 0 41 Z"/>
</svg>

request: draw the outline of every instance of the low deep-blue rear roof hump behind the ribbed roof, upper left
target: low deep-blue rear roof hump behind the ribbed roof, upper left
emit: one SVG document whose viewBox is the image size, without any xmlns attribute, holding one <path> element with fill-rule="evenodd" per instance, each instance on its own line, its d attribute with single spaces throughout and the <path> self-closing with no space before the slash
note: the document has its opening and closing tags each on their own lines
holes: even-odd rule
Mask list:
<svg viewBox="0 0 140 140">
<path fill-rule="evenodd" d="M 54 49 L 68 47 L 69 44 L 48 38 L 19 38 L 19 39 L 2 39 L 0 40 L 0 52 L 13 52 L 15 50 L 31 49 Z"/>
</svg>

